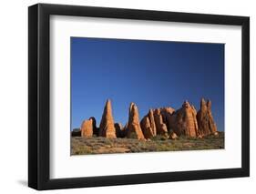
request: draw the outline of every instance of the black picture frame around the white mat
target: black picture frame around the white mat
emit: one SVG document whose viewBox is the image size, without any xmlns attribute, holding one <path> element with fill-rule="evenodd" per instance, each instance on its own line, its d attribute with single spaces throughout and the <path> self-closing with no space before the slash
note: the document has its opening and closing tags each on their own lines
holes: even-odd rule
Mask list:
<svg viewBox="0 0 256 194">
<path fill-rule="evenodd" d="M 50 179 L 50 15 L 241 26 L 241 168 Z M 250 18 L 247 16 L 202 15 L 78 5 L 37 4 L 29 6 L 28 102 L 28 186 L 33 189 L 69 189 L 180 180 L 248 177 L 250 176 Z"/>
</svg>

